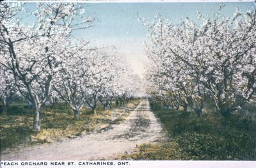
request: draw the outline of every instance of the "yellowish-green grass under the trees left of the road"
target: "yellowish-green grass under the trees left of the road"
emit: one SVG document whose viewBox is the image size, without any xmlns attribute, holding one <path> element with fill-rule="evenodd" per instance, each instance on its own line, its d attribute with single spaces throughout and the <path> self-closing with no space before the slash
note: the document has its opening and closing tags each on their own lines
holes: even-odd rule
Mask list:
<svg viewBox="0 0 256 168">
<path fill-rule="evenodd" d="M 113 123 L 120 123 L 129 115 L 140 100 L 127 103 L 127 110 L 120 110 L 118 118 L 111 120 L 112 109 L 104 111 L 99 105 L 97 115 L 91 109 L 83 108 L 79 119 L 74 119 L 72 109 L 66 103 L 56 103 L 42 107 L 42 125 L 39 133 L 33 132 L 33 111 L 26 104 L 12 103 L 7 115 L 0 115 L 1 151 L 22 148 L 28 145 L 51 143 L 75 138 Z M 119 112 L 119 111 L 118 111 Z"/>
</svg>

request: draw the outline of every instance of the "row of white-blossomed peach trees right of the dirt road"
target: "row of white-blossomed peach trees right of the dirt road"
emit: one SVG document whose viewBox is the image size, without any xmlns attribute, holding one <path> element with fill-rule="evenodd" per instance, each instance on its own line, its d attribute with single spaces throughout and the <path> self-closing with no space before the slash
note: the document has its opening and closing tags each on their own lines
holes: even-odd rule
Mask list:
<svg viewBox="0 0 256 168">
<path fill-rule="evenodd" d="M 256 8 L 233 17 L 198 12 L 178 26 L 157 15 L 143 23 L 150 42 L 146 46 L 150 68 L 148 93 L 166 107 L 183 107 L 199 116 L 205 104 L 228 117 L 256 93 Z"/>
</svg>

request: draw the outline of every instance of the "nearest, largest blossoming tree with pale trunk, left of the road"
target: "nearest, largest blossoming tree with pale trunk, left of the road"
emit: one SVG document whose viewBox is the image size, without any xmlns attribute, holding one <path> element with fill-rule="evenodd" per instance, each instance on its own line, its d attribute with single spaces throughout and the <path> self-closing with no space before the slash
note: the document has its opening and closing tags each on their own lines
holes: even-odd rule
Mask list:
<svg viewBox="0 0 256 168">
<path fill-rule="evenodd" d="M 12 72 L 15 86 L 33 104 L 33 129 L 40 131 L 40 109 L 51 94 L 52 79 L 60 70 L 65 43 L 72 31 L 90 27 L 92 18 L 77 22 L 84 8 L 77 4 L 38 3 L 36 22 L 22 24 L 19 3 L 1 3 L 1 65 Z M 82 15 L 83 16 L 83 15 Z"/>
</svg>

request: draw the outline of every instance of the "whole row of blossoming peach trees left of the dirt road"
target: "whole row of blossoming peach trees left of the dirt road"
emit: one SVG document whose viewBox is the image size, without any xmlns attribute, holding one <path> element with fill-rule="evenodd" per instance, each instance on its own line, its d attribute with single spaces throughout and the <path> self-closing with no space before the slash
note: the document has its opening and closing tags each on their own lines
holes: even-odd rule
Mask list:
<svg viewBox="0 0 256 168">
<path fill-rule="evenodd" d="M 20 3 L 0 3 L 0 11 L 1 100 L 6 105 L 15 93 L 31 102 L 36 132 L 41 107 L 50 98 L 68 103 L 79 118 L 85 104 L 96 113 L 97 102 L 105 108 L 114 100 L 124 103 L 140 88 L 125 59 L 72 38 L 74 31 L 92 25 L 83 6 L 38 3 L 28 12 Z"/>
</svg>

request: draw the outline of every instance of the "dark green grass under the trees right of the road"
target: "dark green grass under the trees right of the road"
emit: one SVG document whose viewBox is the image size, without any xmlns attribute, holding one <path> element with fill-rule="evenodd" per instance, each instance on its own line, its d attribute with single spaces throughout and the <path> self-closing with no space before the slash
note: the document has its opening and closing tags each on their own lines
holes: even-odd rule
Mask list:
<svg viewBox="0 0 256 168">
<path fill-rule="evenodd" d="M 142 144 L 122 160 L 256 160 L 256 123 L 241 114 L 224 119 L 150 106 L 163 123 L 166 139 Z"/>
</svg>

